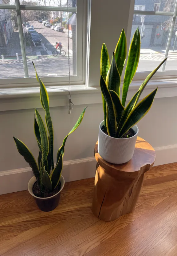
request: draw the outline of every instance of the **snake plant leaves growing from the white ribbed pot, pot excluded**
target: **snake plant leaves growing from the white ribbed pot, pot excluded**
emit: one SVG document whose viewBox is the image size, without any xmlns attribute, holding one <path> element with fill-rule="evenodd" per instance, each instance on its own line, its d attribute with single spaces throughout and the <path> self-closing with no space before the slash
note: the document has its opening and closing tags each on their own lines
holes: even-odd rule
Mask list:
<svg viewBox="0 0 177 256">
<path fill-rule="evenodd" d="M 127 43 L 124 29 L 121 32 L 116 49 L 113 52 L 111 64 L 107 47 L 105 44 L 102 46 L 100 60 L 100 88 L 103 100 L 104 128 L 107 130 L 108 135 L 114 138 L 121 138 L 132 126 L 148 113 L 158 88 L 148 94 L 140 102 L 138 102 L 138 100 L 149 80 L 166 61 L 166 59 L 164 59 L 159 66 L 147 76 L 139 90 L 128 102 L 127 106 L 125 106 L 128 88 L 138 67 L 140 41 L 140 32 L 137 28 L 132 38 L 128 53 L 122 87 L 122 99 L 120 98 L 121 74 L 127 55 Z"/>
</svg>

